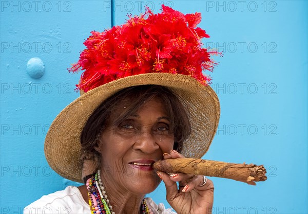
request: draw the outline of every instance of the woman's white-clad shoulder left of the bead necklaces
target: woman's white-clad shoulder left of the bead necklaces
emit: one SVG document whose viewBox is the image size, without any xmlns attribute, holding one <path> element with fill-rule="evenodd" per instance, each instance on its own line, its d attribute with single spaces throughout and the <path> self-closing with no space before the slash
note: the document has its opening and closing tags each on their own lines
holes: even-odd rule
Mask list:
<svg viewBox="0 0 308 214">
<path fill-rule="evenodd" d="M 29 204 L 24 208 L 24 213 L 90 213 L 90 208 L 78 188 L 68 186 Z"/>
</svg>

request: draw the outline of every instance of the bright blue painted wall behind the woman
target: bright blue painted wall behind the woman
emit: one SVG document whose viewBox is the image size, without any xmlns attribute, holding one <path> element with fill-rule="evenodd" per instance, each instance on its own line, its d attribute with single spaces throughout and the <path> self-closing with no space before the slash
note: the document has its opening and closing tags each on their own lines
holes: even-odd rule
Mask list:
<svg viewBox="0 0 308 214">
<path fill-rule="evenodd" d="M 91 30 L 161 4 L 202 13 L 205 46 L 224 57 L 211 74 L 221 103 L 205 159 L 264 164 L 268 180 L 249 186 L 211 178 L 213 213 L 307 213 L 307 1 L 1 1 L 1 213 L 20 213 L 44 194 L 79 185 L 52 171 L 44 138 L 79 94 L 79 58 Z M 29 59 L 45 64 L 40 79 Z M 167 203 L 164 185 L 150 194 Z"/>
</svg>

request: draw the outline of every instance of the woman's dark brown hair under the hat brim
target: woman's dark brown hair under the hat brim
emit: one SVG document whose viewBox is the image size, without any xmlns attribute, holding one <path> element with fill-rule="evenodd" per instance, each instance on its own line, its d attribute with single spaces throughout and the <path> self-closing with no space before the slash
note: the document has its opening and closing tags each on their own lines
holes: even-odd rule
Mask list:
<svg viewBox="0 0 308 214">
<path fill-rule="evenodd" d="M 162 101 L 170 117 L 171 130 L 174 133 L 174 149 L 181 152 L 183 141 L 191 132 L 187 113 L 179 98 L 168 88 L 160 85 L 139 85 L 124 88 L 103 101 L 92 113 L 81 133 L 81 147 L 84 151 L 97 153 L 93 145 L 98 143 L 101 133 L 109 123 L 110 115 L 125 102 L 125 110 L 117 115 L 112 126 L 120 124 L 127 117 L 136 114 L 144 103 L 157 98 Z M 122 106 L 123 109 L 123 106 Z"/>
</svg>

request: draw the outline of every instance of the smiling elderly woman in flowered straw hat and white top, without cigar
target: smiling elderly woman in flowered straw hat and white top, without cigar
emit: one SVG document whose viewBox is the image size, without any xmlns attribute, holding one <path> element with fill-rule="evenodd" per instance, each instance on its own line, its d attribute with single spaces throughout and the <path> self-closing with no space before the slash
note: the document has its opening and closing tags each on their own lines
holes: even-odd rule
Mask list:
<svg viewBox="0 0 308 214">
<path fill-rule="evenodd" d="M 160 159 L 204 155 L 220 113 L 202 74 L 216 52 L 201 48 L 208 36 L 196 28 L 200 13 L 162 7 L 85 42 L 71 68 L 85 70 L 82 96 L 55 118 L 45 141 L 49 165 L 85 185 L 45 195 L 24 213 L 174 213 L 145 198 L 161 181 L 177 213 L 211 212 L 206 177 L 152 168 Z"/>
</svg>

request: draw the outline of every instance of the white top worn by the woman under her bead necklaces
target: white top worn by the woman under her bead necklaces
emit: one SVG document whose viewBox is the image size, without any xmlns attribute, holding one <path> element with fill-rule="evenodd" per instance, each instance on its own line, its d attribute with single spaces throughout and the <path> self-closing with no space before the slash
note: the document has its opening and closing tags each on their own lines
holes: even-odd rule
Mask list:
<svg viewBox="0 0 308 214">
<path fill-rule="evenodd" d="M 164 204 L 156 204 L 151 198 L 145 198 L 151 214 L 176 214 L 172 208 L 166 209 Z M 85 214 L 91 213 L 81 192 L 75 186 L 68 186 L 65 190 L 44 195 L 41 199 L 24 208 L 24 214 Z"/>
</svg>

